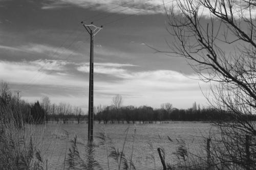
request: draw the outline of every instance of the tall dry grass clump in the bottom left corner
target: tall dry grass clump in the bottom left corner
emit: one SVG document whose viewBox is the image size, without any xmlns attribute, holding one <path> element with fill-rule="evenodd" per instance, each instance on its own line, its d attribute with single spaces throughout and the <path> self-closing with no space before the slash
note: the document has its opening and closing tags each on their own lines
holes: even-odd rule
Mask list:
<svg viewBox="0 0 256 170">
<path fill-rule="evenodd" d="M 43 169 L 44 129 L 17 122 L 14 116 L 19 112 L 3 108 L 0 111 L 0 169 Z"/>
</svg>

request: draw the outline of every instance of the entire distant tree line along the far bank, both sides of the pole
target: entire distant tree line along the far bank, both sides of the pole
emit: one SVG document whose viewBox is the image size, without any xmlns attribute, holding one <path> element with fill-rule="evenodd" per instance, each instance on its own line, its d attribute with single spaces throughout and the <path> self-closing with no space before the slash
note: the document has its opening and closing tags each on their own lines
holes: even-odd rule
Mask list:
<svg viewBox="0 0 256 170">
<path fill-rule="evenodd" d="M 69 103 L 51 103 L 48 96 L 41 98 L 35 103 L 17 99 L 11 92 L 6 82 L 0 82 L 0 113 L 5 114 L 9 109 L 13 113 L 16 122 L 25 123 L 48 123 L 49 121 L 66 124 L 76 121 L 78 124 L 87 122 L 87 114 L 80 107 L 71 106 Z M 94 107 L 94 120 L 98 123 L 126 123 L 145 124 L 164 121 L 216 121 L 230 119 L 230 114 L 214 108 L 201 108 L 196 102 L 189 109 L 177 109 L 170 103 L 164 103 L 160 108 L 154 109 L 150 106 L 122 106 L 123 99 L 120 94 L 112 98 L 112 105 Z M 4 116 L 1 116 L 4 117 Z M 251 115 L 252 120 L 256 116 Z"/>
</svg>

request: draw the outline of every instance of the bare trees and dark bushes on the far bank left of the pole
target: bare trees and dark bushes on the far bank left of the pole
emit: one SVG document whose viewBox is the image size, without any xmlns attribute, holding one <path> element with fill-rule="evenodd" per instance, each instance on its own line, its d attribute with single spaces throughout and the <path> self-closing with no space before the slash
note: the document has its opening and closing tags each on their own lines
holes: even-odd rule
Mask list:
<svg viewBox="0 0 256 170">
<path fill-rule="evenodd" d="M 8 83 L 0 81 L 0 119 L 8 121 L 10 118 L 14 118 L 18 125 L 22 122 L 41 124 L 50 119 L 57 123 L 67 123 L 73 119 L 79 124 L 82 119 L 86 119 L 86 115 L 80 107 L 72 107 L 68 103 L 51 104 L 47 96 L 35 103 L 28 103 L 20 97 L 17 99 Z"/>
</svg>

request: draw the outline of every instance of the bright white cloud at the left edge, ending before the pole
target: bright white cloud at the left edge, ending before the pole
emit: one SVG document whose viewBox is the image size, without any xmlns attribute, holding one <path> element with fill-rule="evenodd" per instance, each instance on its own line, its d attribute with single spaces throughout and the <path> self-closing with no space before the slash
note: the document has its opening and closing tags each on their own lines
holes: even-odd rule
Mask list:
<svg viewBox="0 0 256 170">
<path fill-rule="evenodd" d="M 66 74 L 66 61 L 36 60 L 9 62 L 0 61 L 0 78 L 16 84 L 79 86 L 73 75 Z"/>
</svg>

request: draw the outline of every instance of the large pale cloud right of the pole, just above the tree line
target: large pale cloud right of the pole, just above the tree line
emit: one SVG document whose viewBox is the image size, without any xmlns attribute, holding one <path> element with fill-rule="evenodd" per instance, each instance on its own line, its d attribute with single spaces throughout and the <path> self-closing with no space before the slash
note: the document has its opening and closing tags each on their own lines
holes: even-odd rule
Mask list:
<svg viewBox="0 0 256 170">
<path fill-rule="evenodd" d="M 94 83 L 97 104 L 111 104 L 115 94 L 121 94 L 124 105 L 149 105 L 159 107 L 161 103 L 173 103 L 174 107 L 187 108 L 193 102 L 205 105 L 196 75 L 183 75 L 173 70 L 123 71 L 119 81 L 97 81 Z M 201 83 L 201 89 L 208 89 Z"/>
</svg>

